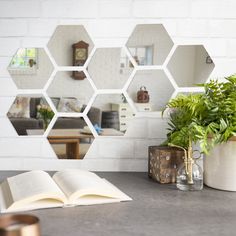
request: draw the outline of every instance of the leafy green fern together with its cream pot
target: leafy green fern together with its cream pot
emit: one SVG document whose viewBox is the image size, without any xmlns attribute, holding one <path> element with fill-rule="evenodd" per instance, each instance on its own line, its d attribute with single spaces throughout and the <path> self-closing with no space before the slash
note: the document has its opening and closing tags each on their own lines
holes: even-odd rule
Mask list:
<svg viewBox="0 0 236 236">
<path fill-rule="evenodd" d="M 167 104 L 174 109 L 167 142 L 185 149 L 189 140 L 199 143 L 205 184 L 236 191 L 236 75 L 203 86 L 203 94 L 179 95 Z"/>
</svg>

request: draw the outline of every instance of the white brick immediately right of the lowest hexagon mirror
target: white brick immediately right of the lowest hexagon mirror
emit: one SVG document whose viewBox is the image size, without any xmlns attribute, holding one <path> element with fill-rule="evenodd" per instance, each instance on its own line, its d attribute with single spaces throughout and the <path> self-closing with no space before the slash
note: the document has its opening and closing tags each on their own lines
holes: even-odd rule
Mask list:
<svg viewBox="0 0 236 236">
<path fill-rule="evenodd" d="M 99 157 L 103 158 L 132 158 L 134 155 L 133 140 L 125 138 L 99 139 Z"/>
</svg>

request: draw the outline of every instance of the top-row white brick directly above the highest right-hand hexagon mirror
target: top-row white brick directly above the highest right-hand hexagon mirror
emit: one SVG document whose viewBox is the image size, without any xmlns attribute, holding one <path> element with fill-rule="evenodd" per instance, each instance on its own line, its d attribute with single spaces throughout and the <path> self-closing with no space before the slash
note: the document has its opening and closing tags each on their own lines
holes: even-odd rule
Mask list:
<svg viewBox="0 0 236 236">
<path fill-rule="evenodd" d="M 184 18 L 189 15 L 188 0 L 136 0 L 133 3 L 133 16 L 145 18 Z"/>
</svg>

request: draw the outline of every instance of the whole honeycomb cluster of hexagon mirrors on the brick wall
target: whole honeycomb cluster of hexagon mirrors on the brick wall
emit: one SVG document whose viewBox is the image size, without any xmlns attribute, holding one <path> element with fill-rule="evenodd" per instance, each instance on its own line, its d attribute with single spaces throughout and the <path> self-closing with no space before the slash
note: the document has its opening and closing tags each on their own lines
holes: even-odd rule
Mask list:
<svg viewBox="0 0 236 236">
<path fill-rule="evenodd" d="M 59 25 L 44 48 L 19 48 L 8 71 L 19 136 L 47 137 L 58 159 L 83 159 L 95 138 L 122 137 L 135 116 L 201 92 L 214 62 L 203 45 L 175 45 L 162 24 L 137 25 L 123 47 L 98 48 L 82 25 Z"/>
</svg>

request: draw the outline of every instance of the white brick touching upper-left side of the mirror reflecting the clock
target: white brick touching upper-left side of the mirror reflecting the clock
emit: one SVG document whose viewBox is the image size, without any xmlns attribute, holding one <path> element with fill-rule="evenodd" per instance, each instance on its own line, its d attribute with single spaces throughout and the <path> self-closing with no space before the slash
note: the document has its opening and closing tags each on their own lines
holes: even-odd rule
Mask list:
<svg viewBox="0 0 236 236">
<path fill-rule="evenodd" d="M 50 37 L 56 26 L 58 21 L 47 19 L 47 20 L 41 20 L 41 19 L 33 19 L 30 20 L 29 25 L 29 36 L 40 36 L 40 37 Z"/>
</svg>

